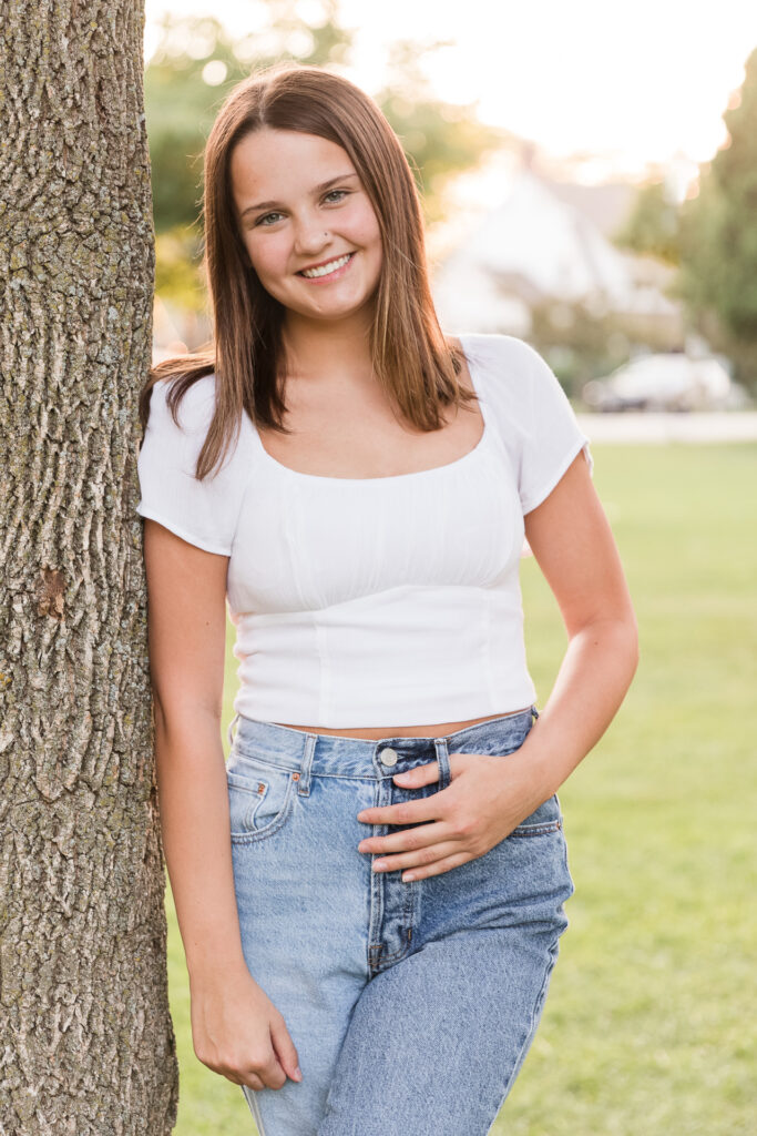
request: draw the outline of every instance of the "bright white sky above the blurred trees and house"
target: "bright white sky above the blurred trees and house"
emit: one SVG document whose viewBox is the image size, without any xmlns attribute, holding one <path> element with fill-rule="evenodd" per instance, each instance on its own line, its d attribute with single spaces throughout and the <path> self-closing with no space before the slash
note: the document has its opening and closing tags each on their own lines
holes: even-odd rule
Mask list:
<svg viewBox="0 0 757 1136">
<path fill-rule="evenodd" d="M 340 0 L 358 30 L 348 77 L 387 82 L 397 39 L 451 40 L 421 57 L 436 93 L 478 100 L 479 117 L 554 156 L 588 151 L 597 169 L 706 161 L 725 136 L 722 114 L 757 47 L 757 0 Z M 318 0 L 301 0 L 318 20 Z M 167 10 L 215 14 L 243 36 L 264 27 L 260 0 L 146 0 L 145 51 Z M 599 178 L 598 178 L 599 179 Z"/>
</svg>

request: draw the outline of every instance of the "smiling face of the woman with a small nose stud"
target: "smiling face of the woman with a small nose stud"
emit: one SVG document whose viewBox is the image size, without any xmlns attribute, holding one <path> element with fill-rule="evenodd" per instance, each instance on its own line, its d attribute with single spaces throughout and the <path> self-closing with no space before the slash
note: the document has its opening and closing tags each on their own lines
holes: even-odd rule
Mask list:
<svg viewBox="0 0 757 1136">
<path fill-rule="evenodd" d="M 267 292 L 319 320 L 352 316 L 372 300 L 381 236 L 342 147 L 263 127 L 234 148 L 230 176 L 239 233 Z M 303 275 L 316 266 L 314 276 Z"/>
</svg>

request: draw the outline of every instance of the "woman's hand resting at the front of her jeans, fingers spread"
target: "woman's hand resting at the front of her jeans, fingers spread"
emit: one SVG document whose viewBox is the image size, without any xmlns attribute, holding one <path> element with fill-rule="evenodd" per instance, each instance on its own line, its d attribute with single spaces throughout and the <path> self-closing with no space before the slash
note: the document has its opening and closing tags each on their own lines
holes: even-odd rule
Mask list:
<svg viewBox="0 0 757 1136">
<path fill-rule="evenodd" d="M 523 760 L 521 750 L 505 757 L 451 753 L 452 780 L 447 788 L 418 801 L 358 813 L 358 820 L 369 825 L 430 824 L 367 837 L 358 851 L 387 853 L 386 859 L 373 861 L 375 871 L 412 869 L 403 880 L 438 876 L 483 855 L 550 795 L 537 780 L 530 759 Z M 393 778 L 402 788 L 419 788 L 438 779 L 438 761 Z"/>
</svg>

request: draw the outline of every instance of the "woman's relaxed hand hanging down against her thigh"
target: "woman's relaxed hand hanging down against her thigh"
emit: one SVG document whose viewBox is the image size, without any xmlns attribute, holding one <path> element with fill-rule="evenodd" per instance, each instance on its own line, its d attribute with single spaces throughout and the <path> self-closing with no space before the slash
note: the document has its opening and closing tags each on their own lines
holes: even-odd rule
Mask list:
<svg viewBox="0 0 757 1136">
<path fill-rule="evenodd" d="M 246 968 L 191 980 L 191 1009 L 194 1052 L 213 1072 L 255 1089 L 302 1080 L 284 1017 Z"/>
</svg>

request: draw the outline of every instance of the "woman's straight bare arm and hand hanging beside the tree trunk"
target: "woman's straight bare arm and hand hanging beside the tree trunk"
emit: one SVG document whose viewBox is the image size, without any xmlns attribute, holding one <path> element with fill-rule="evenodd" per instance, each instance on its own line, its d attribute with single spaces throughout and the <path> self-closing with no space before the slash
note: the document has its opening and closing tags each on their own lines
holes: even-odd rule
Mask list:
<svg viewBox="0 0 757 1136">
<path fill-rule="evenodd" d="M 163 852 L 200 1061 L 238 1085 L 297 1076 L 283 1016 L 250 975 L 232 866 L 221 744 L 228 557 L 144 523 L 150 673 Z"/>
</svg>

